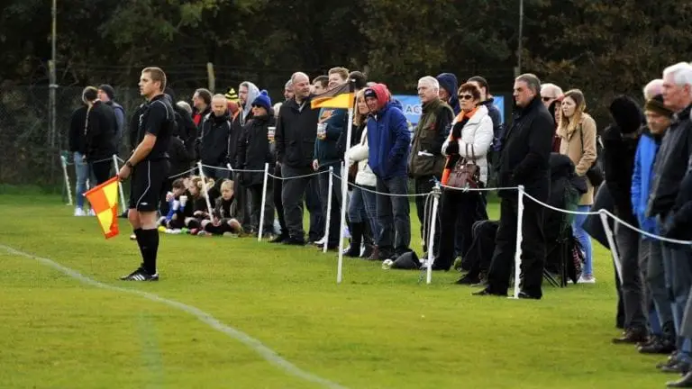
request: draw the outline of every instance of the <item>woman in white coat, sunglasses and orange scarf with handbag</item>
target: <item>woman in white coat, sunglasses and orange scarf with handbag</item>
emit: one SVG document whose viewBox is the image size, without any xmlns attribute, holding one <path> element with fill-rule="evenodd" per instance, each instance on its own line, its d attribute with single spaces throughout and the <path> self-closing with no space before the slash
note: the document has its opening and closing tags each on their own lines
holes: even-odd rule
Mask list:
<svg viewBox="0 0 692 389">
<path fill-rule="evenodd" d="M 451 187 L 450 176 L 457 163 L 473 163 L 478 167 L 478 186 L 487 184 L 487 151 L 493 141 L 493 121 L 485 105 L 480 103 L 480 91 L 473 84 L 464 84 L 458 91 L 461 112 L 451 128 L 450 137 L 442 144 L 442 155 L 447 165 L 442 173 L 442 201 L 440 208 L 440 254 L 433 269 L 449 270 L 454 260 L 455 229 L 461 229 L 465 256 L 471 244 L 471 230 L 476 221 L 476 210 L 482 202 L 480 192 L 463 192 Z M 457 222 L 459 220 L 459 223 Z"/>
</svg>

